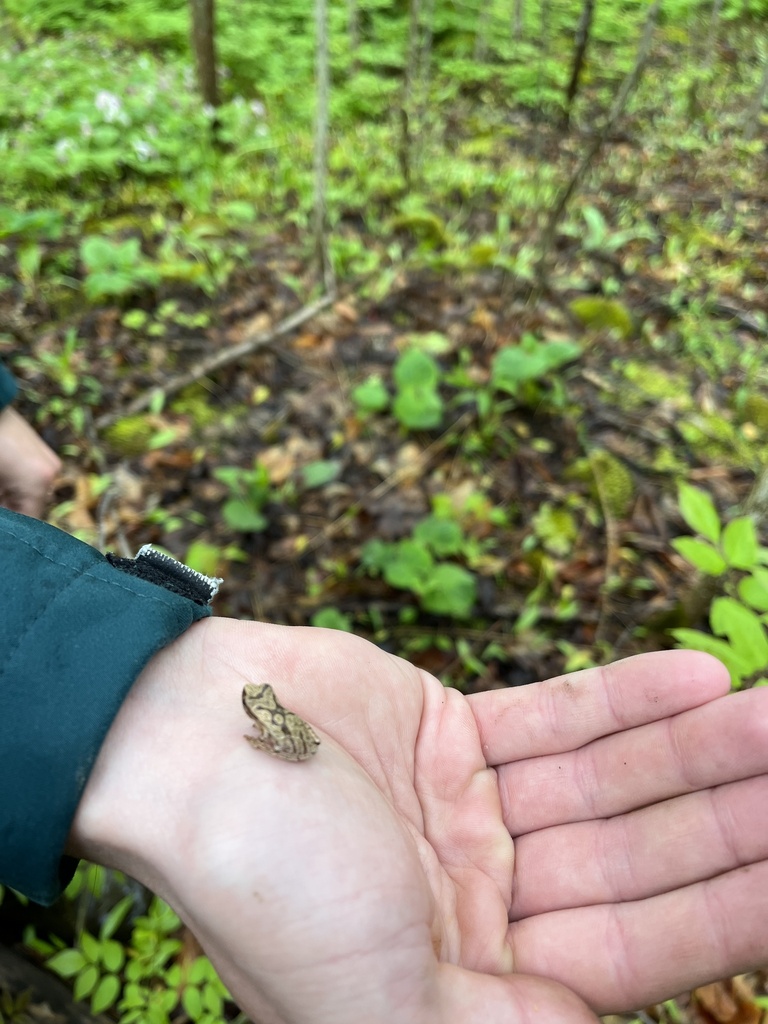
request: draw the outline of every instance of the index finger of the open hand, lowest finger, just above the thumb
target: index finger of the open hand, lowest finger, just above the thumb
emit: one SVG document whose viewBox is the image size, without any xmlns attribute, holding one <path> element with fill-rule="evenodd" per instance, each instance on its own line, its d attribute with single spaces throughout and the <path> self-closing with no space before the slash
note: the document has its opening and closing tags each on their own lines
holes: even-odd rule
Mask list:
<svg viewBox="0 0 768 1024">
<path fill-rule="evenodd" d="M 628 1011 L 768 959 L 768 863 L 637 903 L 559 910 L 510 926 L 516 969 Z"/>
</svg>

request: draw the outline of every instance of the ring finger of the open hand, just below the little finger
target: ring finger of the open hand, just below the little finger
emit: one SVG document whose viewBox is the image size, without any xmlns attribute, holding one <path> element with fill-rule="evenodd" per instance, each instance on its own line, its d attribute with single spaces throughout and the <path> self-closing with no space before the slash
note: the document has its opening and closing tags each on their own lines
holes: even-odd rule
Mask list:
<svg viewBox="0 0 768 1024">
<path fill-rule="evenodd" d="M 513 836 L 606 818 L 768 771 L 768 689 L 497 769 Z"/>
</svg>

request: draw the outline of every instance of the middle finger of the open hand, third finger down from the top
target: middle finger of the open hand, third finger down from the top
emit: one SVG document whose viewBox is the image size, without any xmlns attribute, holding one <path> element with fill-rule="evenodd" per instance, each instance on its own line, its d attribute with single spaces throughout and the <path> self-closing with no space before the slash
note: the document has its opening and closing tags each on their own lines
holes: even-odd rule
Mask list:
<svg viewBox="0 0 768 1024">
<path fill-rule="evenodd" d="M 768 860 L 768 776 L 515 842 L 510 919 L 646 899 Z"/>
</svg>

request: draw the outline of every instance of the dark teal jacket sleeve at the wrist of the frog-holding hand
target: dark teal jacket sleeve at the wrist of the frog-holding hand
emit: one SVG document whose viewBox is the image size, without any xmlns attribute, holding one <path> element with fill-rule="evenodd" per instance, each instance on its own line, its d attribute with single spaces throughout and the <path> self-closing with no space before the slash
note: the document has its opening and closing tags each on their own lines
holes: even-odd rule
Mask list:
<svg viewBox="0 0 768 1024">
<path fill-rule="evenodd" d="M 121 702 L 210 609 L 6 509 L 0 566 L 0 882 L 48 904 L 72 876 L 62 850 Z"/>
</svg>

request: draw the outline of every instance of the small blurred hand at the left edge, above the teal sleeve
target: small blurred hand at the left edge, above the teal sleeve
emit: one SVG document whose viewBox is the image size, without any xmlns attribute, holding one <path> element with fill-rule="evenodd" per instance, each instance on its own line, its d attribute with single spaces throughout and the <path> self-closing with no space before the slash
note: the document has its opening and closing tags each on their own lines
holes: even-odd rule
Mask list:
<svg viewBox="0 0 768 1024">
<path fill-rule="evenodd" d="M 39 518 L 60 468 L 58 456 L 14 409 L 0 411 L 0 505 Z"/>
</svg>

